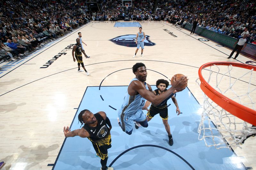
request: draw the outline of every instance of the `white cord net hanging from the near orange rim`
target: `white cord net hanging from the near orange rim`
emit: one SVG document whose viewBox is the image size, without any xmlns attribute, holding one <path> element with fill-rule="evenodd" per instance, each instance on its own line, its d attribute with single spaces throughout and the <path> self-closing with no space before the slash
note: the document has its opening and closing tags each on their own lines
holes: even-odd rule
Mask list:
<svg viewBox="0 0 256 170">
<path fill-rule="evenodd" d="M 203 69 L 202 74 L 215 90 L 255 110 L 256 71 L 232 65 L 213 65 Z M 207 75 L 209 75 L 208 80 Z M 196 82 L 200 86 L 199 78 Z M 218 106 L 204 92 L 203 97 L 203 113 L 198 127 L 198 139 L 204 140 L 207 147 L 215 146 L 220 149 L 238 146 L 241 148 L 241 142 L 249 135 L 256 133 L 255 127 Z"/>
</svg>

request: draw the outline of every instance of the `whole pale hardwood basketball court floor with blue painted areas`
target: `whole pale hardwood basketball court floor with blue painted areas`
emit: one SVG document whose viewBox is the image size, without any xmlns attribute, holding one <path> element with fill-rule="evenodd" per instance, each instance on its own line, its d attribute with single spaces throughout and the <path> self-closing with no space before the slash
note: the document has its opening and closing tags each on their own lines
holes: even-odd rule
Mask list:
<svg viewBox="0 0 256 170">
<path fill-rule="evenodd" d="M 139 49 L 132 58 L 139 26 L 146 35 L 144 57 Z M 77 72 L 73 62 L 78 32 L 87 44 L 85 53 L 91 56 L 83 57 L 89 76 Z M 63 134 L 64 126 L 80 128 L 77 115 L 84 109 L 104 111 L 109 117 L 113 128 L 107 165 L 114 169 L 255 169 L 255 137 L 248 138 L 242 149 L 232 150 L 206 147 L 204 140 L 198 140 L 204 102 L 196 83 L 199 67 L 215 61 L 256 65 L 242 54 L 237 60 L 227 59 L 230 53 L 216 42 L 164 21 L 94 21 L 21 60 L 4 63 L 0 70 L 0 161 L 6 164 L 2 169 L 100 169 L 100 158 L 88 139 Z M 132 135 L 118 126 L 117 110 L 137 62 L 146 65 L 146 82 L 153 90 L 157 79 L 168 80 L 177 73 L 189 78 L 187 88 L 176 95 L 182 114 L 177 116 L 172 100 L 167 102 L 172 146 L 159 115 L 148 122 L 148 128 L 134 128 Z M 234 71 L 238 77 L 242 74 Z M 242 91 L 246 84 L 244 80 L 236 88 Z M 255 88 L 255 79 L 251 84 Z M 255 102 L 255 95 L 252 99 Z"/>
</svg>

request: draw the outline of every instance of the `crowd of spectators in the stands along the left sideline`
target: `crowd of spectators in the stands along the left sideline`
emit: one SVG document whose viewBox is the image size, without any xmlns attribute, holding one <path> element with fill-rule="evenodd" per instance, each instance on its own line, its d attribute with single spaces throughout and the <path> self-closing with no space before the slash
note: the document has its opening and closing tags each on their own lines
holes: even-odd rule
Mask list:
<svg viewBox="0 0 256 170">
<path fill-rule="evenodd" d="M 89 22 L 83 0 L 1 1 L 0 55 L 22 57 Z M 10 56 L 10 57 L 9 57 Z"/>
</svg>

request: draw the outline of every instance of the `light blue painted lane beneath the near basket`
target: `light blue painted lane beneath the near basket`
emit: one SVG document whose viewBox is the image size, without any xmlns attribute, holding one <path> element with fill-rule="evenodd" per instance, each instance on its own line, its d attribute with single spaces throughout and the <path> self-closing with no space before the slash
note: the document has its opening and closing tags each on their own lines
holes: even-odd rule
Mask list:
<svg viewBox="0 0 256 170">
<path fill-rule="evenodd" d="M 153 90 L 156 88 L 151 86 Z M 127 86 L 87 87 L 81 105 L 77 110 L 71 130 L 80 129 L 77 116 L 80 111 L 89 109 L 92 113 L 106 112 L 111 121 L 112 147 L 108 150 L 108 164 L 121 170 L 131 169 L 245 169 L 241 158 L 227 148 L 215 149 L 206 147 L 204 141 L 198 140 L 198 124 L 202 108 L 186 88 L 178 92 L 176 99 L 183 114 L 177 116 L 176 107 L 168 100 L 169 125 L 174 144 L 169 146 L 168 137 L 162 119 L 156 115 L 148 128 L 133 128 L 132 135 L 122 131 L 117 123 L 117 111 L 120 108 Z M 102 98 L 104 100 L 102 100 Z M 111 107 L 117 110 L 112 109 Z M 144 112 L 146 114 L 146 111 Z M 74 113 L 75 114 L 75 113 Z M 67 126 L 67 125 L 63 125 Z M 69 125 L 68 125 L 69 126 Z M 213 125 L 211 125 L 213 127 Z M 217 133 L 217 132 L 214 132 Z M 63 136 L 64 138 L 64 136 Z M 211 142 L 209 139 L 208 142 Z M 167 148 L 169 152 L 158 147 L 136 147 L 141 145 L 156 145 Z M 131 148 L 135 147 L 132 150 Z M 122 154 L 124 151 L 129 152 Z M 176 154 L 174 154 L 176 153 Z M 182 159 L 181 159 L 182 158 Z M 115 160 L 115 161 L 114 161 Z M 184 161 L 188 162 L 188 164 Z M 191 165 L 191 166 L 189 166 Z M 100 169 L 100 158 L 95 157 L 92 143 L 87 138 L 66 138 L 60 151 L 55 170 Z"/>
</svg>

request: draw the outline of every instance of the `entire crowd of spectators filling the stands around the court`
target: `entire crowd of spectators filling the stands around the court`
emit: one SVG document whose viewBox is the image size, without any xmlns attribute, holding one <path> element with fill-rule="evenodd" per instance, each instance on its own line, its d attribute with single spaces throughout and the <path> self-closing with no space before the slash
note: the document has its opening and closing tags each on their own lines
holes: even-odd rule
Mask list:
<svg viewBox="0 0 256 170">
<path fill-rule="evenodd" d="M 90 11 L 86 2 L 97 2 L 100 10 Z M 8 0 L 0 5 L 0 55 L 12 60 L 12 55 L 26 55 L 90 20 L 125 17 L 122 0 Z M 235 38 L 246 34 L 256 43 L 256 5 L 252 0 L 133 0 L 129 18 L 166 20 L 181 27 L 197 19 L 199 27 Z"/>
</svg>

